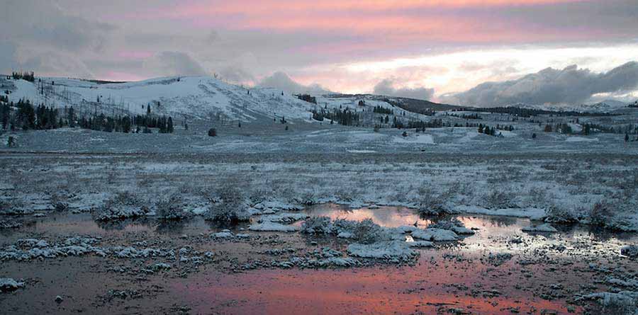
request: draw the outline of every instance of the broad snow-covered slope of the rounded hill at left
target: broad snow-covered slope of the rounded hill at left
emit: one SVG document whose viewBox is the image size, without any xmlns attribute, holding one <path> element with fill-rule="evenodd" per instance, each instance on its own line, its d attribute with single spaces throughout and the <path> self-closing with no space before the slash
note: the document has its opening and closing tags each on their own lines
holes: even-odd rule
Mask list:
<svg viewBox="0 0 638 315">
<path fill-rule="evenodd" d="M 310 118 L 310 103 L 291 95 L 281 95 L 273 88 L 247 89 L 226 84 L 207 76 L 171 77 L 128 83 L 99 84 L 81 79 L 41 78 L 43 86 L 24 80 L 0 79 L 0 85 L 11 91 L 10 101 L 27 98 L 33 103 L 58 107 L 74 106 L 89 112 L 97 110 L 124 113 L 184 115 L 189 118 L 211 118 L 218 115 L 233 120 L 258 118 Z M 250 91 L 250 93 L 249 93 Z M 99 100 L 99 101 L 98 101 Z"/>
</svg>

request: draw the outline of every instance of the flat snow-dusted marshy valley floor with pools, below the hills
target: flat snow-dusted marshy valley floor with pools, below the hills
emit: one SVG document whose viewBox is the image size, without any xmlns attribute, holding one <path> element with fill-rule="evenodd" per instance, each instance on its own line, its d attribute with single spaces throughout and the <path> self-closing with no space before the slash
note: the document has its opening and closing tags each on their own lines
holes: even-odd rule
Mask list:
<svg viewBox="0 0 638 315">
<path fill-rule="evenodd" d="M 620 253 L 638 241 L 637 162 L 586 152 L 5 151 L 0 277 L 23 283 L 0 305 L 14 314 L 600 314 L 634 303 L 638 290 L 637 262 Z M 224 185 L 250 200 L 251 222 L 199 215 Z M 179 195 L 194 217 L 94 221 L 90 212 L 123 191 L 151 214 Z M 428 205 L 476 234 L 364 258 L 349 239 L 300 233 L 304 216 L 294 215 L 407 231 L 438 220 L 416 214 Z M 268 214 L 296 222 L 254 231 Z M 558 231 L 522 231 L 543 219 Z"/>
</svg>

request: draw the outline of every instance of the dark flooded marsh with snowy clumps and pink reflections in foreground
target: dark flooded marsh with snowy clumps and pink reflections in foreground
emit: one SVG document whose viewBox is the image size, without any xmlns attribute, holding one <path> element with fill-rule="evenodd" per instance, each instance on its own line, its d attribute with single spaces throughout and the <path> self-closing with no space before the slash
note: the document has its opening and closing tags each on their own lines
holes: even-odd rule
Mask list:
<svg viewBox="0 0 638 315">
<path fill-rule="evenodd" d="M 396 207 L 317 205 L 301 213 L 383 227 L 440 219 Z M 230 229 L 200 217 L 173 224 L 98 224 L 69 213 L 14 219 L 23 225 L 0 230 L 1 248 L 61 253 L 0 261 L 0 277 L 23 282 L 0 294 L 8 314 L 608 314 L 591 294 L 638 290 L 638 261 L 620 253 L 637 244 L 636 234 L 586 226 L 525 232 L 535 222 L 522 218 L 460 215 L 474 235 L 416 248 L 413 260 L 323 266 L 317 262 L 352 258 L 347 239 L 250 231 L 259 217 Z M 88 252 L 73 252 L 79 248 Z M 294 258 L 305 260 L 290 264 Z"/>
</svg>

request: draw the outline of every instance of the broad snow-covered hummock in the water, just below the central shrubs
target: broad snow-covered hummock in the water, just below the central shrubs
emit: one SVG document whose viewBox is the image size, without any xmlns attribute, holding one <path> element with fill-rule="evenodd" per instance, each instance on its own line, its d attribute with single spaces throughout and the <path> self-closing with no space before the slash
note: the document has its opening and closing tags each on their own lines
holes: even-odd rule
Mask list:
<svg viewBox="0 0 638 315">
<path fill-rule="evenodd" d="M 372 244 L 350 244 L 348 253 L 361 258 L 410 261 L 419 256 L 405 241 L 379 241 Z"/>
</svg>

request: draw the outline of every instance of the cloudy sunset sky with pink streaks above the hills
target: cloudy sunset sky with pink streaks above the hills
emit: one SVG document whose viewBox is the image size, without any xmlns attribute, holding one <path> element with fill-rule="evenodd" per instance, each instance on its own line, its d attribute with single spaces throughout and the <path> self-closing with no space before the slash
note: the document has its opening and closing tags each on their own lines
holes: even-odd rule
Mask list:
<svg viewBox="0 0 638 315">
<path fill-rule="evenodd" d="M 2 0 L 0 72 L 461 105 L 638 98 L 636 0 Z"/>
</svg>

